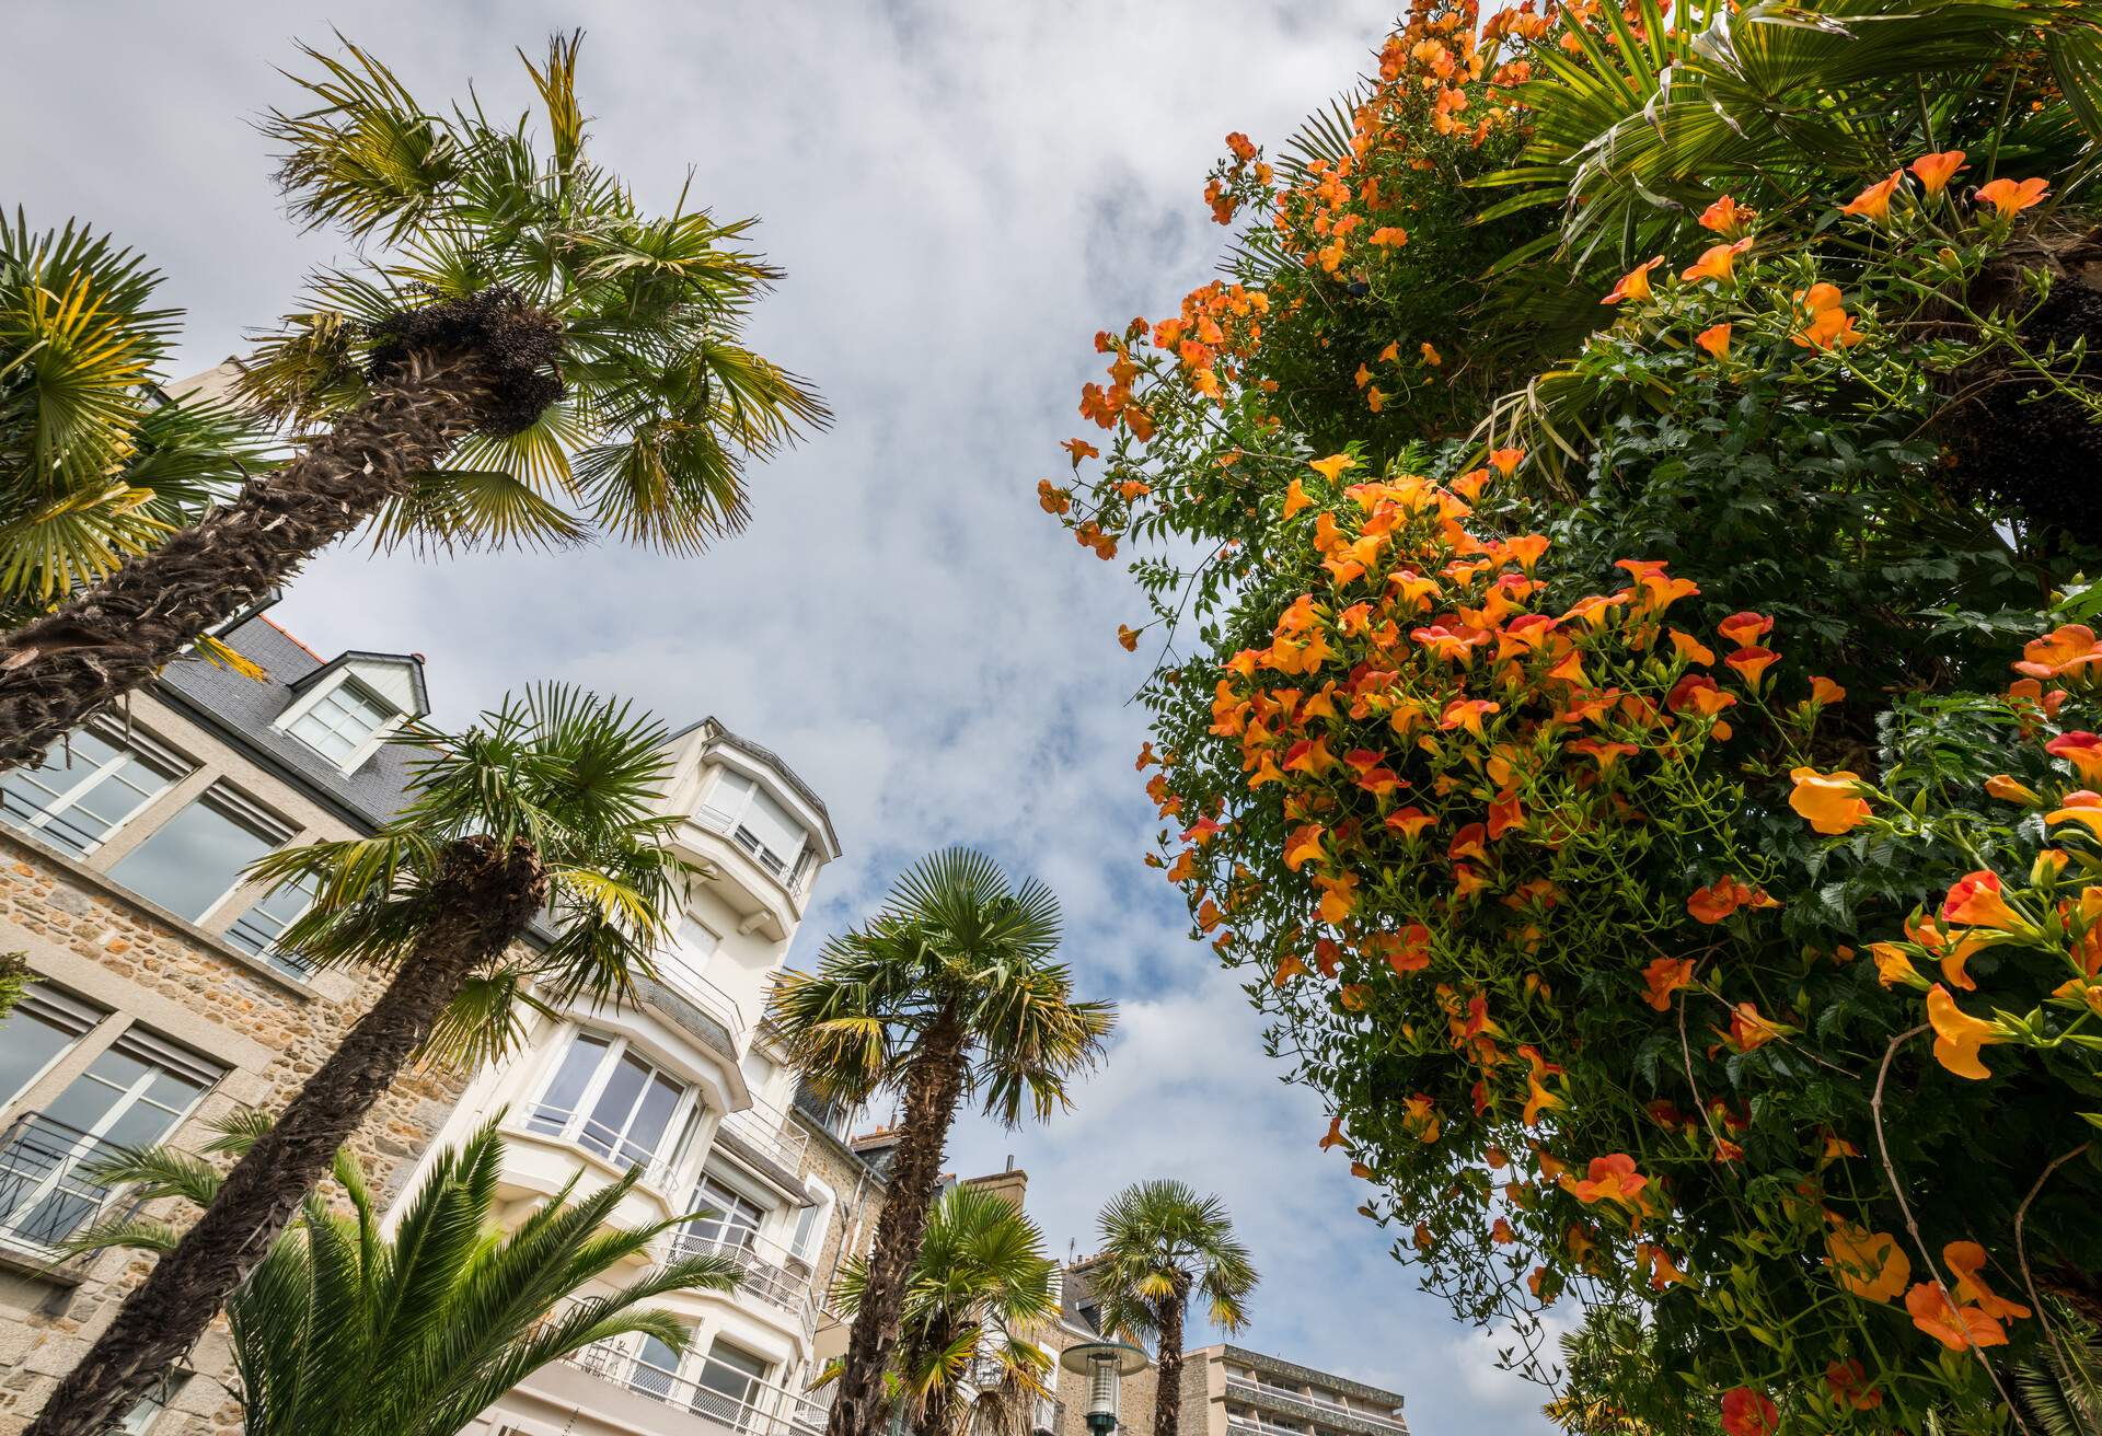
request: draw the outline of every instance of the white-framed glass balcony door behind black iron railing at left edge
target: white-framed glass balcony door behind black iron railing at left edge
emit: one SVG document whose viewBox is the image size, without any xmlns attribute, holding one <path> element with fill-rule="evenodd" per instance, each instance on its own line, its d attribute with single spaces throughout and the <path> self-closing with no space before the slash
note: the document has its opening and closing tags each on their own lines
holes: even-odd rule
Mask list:
<svg viewBox="0 0 2102 1436">
<path fill-rule="evenodd" d="M 120 1148 L 168 1140 L 221 1070 L 139 1028 L 111 1043 L 0 1148 L 0 1232 L 55 1247 L 109 1196 L 88 1171 Z"/>
</svg>

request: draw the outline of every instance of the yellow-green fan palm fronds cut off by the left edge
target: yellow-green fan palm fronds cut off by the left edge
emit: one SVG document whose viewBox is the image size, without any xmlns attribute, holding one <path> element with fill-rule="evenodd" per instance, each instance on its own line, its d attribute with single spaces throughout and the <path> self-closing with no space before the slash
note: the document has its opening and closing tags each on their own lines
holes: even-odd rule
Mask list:
<svg viewBox="0 0 2102 1436">
<path fill-rule="evenodd" d="M 0 627 L 105 578 L 269 467 L 252 418 L 156 389 L 181 317 L 153 305 L 158 288 L 107 235 L 0 217 Z"/>
</svg>

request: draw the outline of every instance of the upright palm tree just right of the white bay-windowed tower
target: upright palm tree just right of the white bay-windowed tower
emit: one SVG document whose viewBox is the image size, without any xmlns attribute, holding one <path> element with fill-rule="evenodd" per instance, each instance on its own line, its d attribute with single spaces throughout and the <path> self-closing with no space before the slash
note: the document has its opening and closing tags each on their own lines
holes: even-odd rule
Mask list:
<svg viewBox="0 0 2102 1436">
<path fill-rule="evenodd" d="M 1068 969 L 1051 961 L 1057 942 L 1049 887 L 1015 887 L 992 858 L 950 847 L 908 868 L 862 929 L 826 942 L 816 973 L 784 973 L 774 988 L 769 1016 L 820 1093 L 895 1091 L 904 1106 L 828 1436 L 866 1436 L 883 1415 L 883 1373 L 959 1102 L 982 1095 L 1009 1127 L 1026 1112 L 1043 1121 L 1101 1055 L 1116 1005 L 1072 999 Z"/>
</svg>

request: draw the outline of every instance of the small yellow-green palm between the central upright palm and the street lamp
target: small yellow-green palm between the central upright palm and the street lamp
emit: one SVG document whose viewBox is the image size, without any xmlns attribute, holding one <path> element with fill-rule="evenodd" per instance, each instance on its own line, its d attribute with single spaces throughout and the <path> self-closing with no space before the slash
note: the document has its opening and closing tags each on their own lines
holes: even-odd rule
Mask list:
<svg viewBox="0 0 2102 1436">
<path fill-rule="evenodd" d="M 906 1274 L 889 1371 L 891 1400 L 916 1436 L 1026 1436 L 1051 1369 L 1026 1333 L 1057 1318 L 1055 1270 L 1043 1232 L 1011 1201 L 977 1186 L 942 1194 Z M 866 1291 L 868 1261 L 856 1257 L 834 1301 L 856 1316 Z"/>
</svg>

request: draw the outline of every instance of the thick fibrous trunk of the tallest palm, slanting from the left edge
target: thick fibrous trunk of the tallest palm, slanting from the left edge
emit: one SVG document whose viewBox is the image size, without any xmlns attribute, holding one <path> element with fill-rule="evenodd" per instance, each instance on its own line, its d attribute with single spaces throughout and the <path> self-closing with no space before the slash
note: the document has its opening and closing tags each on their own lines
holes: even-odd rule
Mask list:
<svg viewBox="0 0 2102 1436">
<path fill-rule="evenodd" d="M 435 469 L 481 423 L 473 355 L 412 353 L 294 463 L 0 637 L 0 770 L 29 763 Z"/>
</svg>

